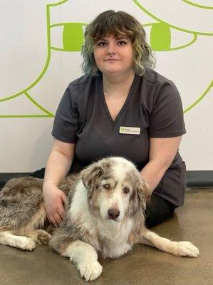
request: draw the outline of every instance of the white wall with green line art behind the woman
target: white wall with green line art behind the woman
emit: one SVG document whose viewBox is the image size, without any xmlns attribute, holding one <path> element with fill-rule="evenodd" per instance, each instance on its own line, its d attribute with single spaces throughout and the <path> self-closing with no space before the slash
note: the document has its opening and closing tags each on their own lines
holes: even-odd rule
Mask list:
<svg viewBox="0 0 213 285">
<path fill-rule="evenodd" d="M 107 9 L 127 11 L 145 25 L 147 40 L 155 45 L 156 70 L 176 83 L 188 110 L 187 135 L 180 148 L 187 169 L 213 170 L 213 10 L 208 9 L 212 8 L 211 3 L 194 0 L 194 6 L 179 0 L 2 2 L 0 172 L 29 172 L 46 165 L 53 140 L 53 114 L 68 83 L 82 74 L 78 46 L 72 46 L 72 41 L 63 43 L 64 27 L 73 36 L 73 42 L 80 44 L 79 27 L 83 31 L 85 24 Z M 78 23 L 77 28 L 68 23 Z M 165 35 L 171 43 L 160 48 Z M 198 99 L 202 100 L 196 103 Z"/>
</svg>

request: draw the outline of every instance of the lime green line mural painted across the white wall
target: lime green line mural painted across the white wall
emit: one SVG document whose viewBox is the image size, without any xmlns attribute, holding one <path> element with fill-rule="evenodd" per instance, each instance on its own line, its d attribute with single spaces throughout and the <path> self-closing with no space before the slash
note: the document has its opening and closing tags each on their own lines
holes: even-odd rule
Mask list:
<svg viewBox="0 0 213 285">
<path fill-rule="evenodd" d="M 43 78 L 44 74 L 48 70 L 49 63 L 51 61 L 51 51 L 63 51 L 63 52 L 80 52 L 81 46 L 83 44 L 83 29 L 87 25 L 87 23 L 77 23 L 77 22 L 67 22 L 67 23 L 60 23 L 60 24 L 51 24 L 51 8 L 53 6 L 63 5 L 68 0 L 59 1 L 56 4 L 47 4 L 46 5 L 46 28 L 47 29 L 47 58 L 45 66 L 43 67 L 43 70 L 38 75 L 37 78 L 35 78 L 35 81 L 31 83 L 29 86 L 24 88 L 24 90 L 20 90 L 19 93 L 7 95 L 4 98 L 0 99 L 0 103 L 3 103 L 4 101 L 13 100 L 14 98 L 17 98 L 21 95 L 26 96 L 27 100 L 31 102 L 31 104 L 35 105 L 36 108 L 38 108 L 40 111 L 43 112 L 43 114 L 26 114 L 26 115 L 0 115 L 0 118 L 39 118 L 39 117 L 46 117 L 46 118 L 53 118 L 54 114 L 47 110 L 46 108 L 43 108 L 42 105 L 40 105 L 33 97 L 31 96 L 31 89 L 36 86 L 36 84 L 41 81 L 41 78 Z M 185 4 L 196 6 L 198 9 L 213 9 L 212 6 L 202 6 L 200 4 L 196 4 L 193 1 L 184 1 Z M 197 41 L 198 37 L 202 36 L 213 36 L 212 33 L 209 33 L 209 31 L 192 31 L 191 29 L 185 29 L 181 28 L 179 26 L 174 26 L 166 21 L 163 21 L 160 19 L 157 15 L 153 14 L 151 11 L 148 11 L 145 9 L 145 7 L 141 4 L 141 1 L 133 0 L 130 1 L 130 4 L 136 5 L 138 9 L 140 9 L 142 12 L 147 14 L 153 19 L 152 23 L 146 23 L 143 24 L 143 26 L 150 28 L 150 45 L 152 46 L 152 49 L 157 52 L 172 52 L 177 51 L 182 48 L 187 48 L 188 46 L 192 46 L 195 41 Z M 155 22 L 154 22 L 155 20 Z M 61 28 L 62 32 L 62 47 L 53 46 L 51 44 L 51 30 L 53 28 Z M 184 45 L 180 46 L 172 46 L 172 30 L 176 30 L 182 33 L 188 33 L 190 35 L 191 40 L 188 43 L 185 43 Z M 190 103 L 187 108 L 185 108 L 184 112 L 188 112 L 189 110 L 192 110 L 195 105 L 197 105 L 203 98 L 209 93 L 209 90 L 213 87 L 213 81 L 209 82 L 209 85 L 206 86 L 205 90 L 199 96 L 194 100 L 193 103 Z"/>
</svg>

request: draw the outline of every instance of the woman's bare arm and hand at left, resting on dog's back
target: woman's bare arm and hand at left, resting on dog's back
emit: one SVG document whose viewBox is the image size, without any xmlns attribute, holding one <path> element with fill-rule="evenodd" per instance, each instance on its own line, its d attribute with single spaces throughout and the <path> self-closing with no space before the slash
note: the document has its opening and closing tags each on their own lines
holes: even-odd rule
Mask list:
<svg viewBox="0 0 213 285">
<path fill-rule="evenodd" d="M 55 227 L 63 218 L 66 195 L 58 189 L 70 170 L 75 144 L 55 140 L 46 165 L 43 181 L 43 200 L 46 214 Z"/>
</svg>

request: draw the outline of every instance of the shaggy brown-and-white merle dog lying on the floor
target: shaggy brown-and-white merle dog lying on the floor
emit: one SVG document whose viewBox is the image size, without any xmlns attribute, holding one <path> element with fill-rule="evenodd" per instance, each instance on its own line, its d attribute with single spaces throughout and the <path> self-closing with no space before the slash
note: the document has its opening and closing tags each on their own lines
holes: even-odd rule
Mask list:
<svg viewBox="0 0 213 285">
<path fill-rule="evenodd" d="M 103 270 L 98 256 L 121 257 L 133 244 L 176 256 L 199 255 L 192 243 L 172 242 L 145 227 L 145 202 L 151 191 L 135 165 L 123 157 L 103 158 L 66 177 L 60 186 L 68 195 L 65 216 L 52 236 L 45 228 L 42 185 L 38 178 L 21 177 L 1 190 L 1 244 L 22 250 L 50 244 L 76 264 L 86 281 L 97 279 Z"/>
</svg>

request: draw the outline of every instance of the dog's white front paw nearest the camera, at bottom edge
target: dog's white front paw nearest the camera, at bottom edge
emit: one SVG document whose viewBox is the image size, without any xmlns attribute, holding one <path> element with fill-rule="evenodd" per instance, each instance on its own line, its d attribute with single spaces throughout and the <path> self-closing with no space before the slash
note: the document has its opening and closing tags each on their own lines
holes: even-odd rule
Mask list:
<svg viewBox="0 0 213 285">
<path fill-rule="evenodd" d="M 93 281 L 100 276 L 102 272 L 102 266 L 97 260 L 82 261 L 78 264 L 80 271 L 80 277 L 84 277 L 85 281 Z"/>
</svg>

